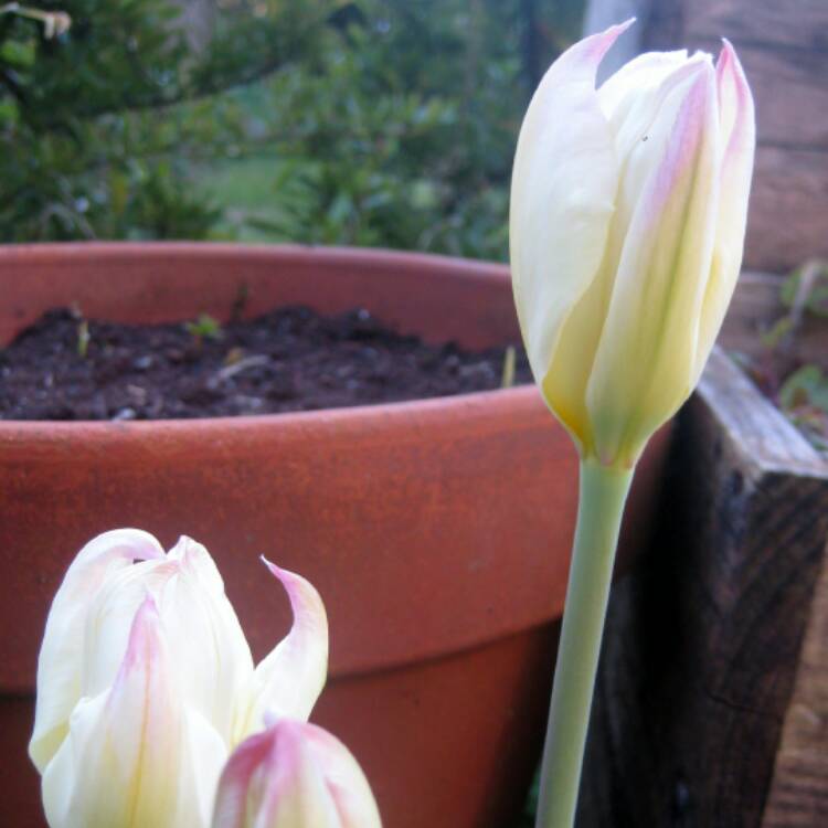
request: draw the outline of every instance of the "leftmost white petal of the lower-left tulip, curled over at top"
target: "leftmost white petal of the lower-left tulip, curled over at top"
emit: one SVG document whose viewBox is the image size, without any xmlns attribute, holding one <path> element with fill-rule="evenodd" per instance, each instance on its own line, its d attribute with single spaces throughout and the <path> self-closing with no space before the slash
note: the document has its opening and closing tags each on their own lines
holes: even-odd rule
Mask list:
<svg viewBox="0 0 828 828">
<path fill-rule="evenodd" d="M 38 703 L 29 754 L 42 773 L 66 735 L 81 698 L 84 625 L 89 601 L 116 571 L 135 560 L 163 558 L 163 549 L 137 529 L 105 532 L 76 555 L 52 602 L 38 659 Z"/>
</svg>

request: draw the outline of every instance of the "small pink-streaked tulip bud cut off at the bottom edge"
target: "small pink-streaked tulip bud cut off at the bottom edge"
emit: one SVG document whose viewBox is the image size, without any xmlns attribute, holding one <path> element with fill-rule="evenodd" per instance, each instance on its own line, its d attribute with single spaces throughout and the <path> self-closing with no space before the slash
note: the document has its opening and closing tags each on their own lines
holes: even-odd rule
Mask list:
<svg viewBox="0 0 828 828">
<path fill-rule="evenodd" d="M 276 720 L 243 742 L 219 783 L 212 828 L 380 828 L 362 769 L 321 728 Z"/>
</svg>

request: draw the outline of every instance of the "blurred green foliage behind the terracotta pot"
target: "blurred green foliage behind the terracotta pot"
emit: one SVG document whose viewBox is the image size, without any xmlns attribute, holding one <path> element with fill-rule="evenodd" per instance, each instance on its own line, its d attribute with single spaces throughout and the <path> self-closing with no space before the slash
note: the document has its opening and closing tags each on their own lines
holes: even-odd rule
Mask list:
<svg viewBox="0 0 828 828">
<path fill-rule="evenodd" d="M 502 258 L 520 118 L 581 6 L 40 3 L 72 17 L 54 39 L 2 15 L 0 238 Z"/>
</svg>

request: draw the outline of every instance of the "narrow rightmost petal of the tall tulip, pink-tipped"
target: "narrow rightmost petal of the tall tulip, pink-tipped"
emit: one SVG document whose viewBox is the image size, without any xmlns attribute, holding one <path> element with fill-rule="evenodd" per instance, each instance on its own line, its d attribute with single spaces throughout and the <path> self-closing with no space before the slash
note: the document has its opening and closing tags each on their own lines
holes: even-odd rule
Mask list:
<svg viewBox="0 0 828 828">
<path fill-rule="evenodd" d="M 716 83 L 725 144 L 713 263 L 701 314 L 693 385 L 708 361 L 739 279 L 756 146 L 753 95 L 735 50 L 726 40 L 716 63 Z"/>
</svg>

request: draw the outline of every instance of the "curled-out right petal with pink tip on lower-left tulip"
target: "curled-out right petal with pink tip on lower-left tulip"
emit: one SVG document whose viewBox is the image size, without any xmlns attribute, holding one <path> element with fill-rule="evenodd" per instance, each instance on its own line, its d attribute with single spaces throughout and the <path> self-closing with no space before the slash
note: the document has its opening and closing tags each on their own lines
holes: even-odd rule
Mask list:
<svg viewBox="0 0 828 828">
<path fill-rule="evenodd" d="M 306 720 L 328 675 L 328 618 L 319 593 L 304 577 L 263 561 L 287 591 L 294 624 L 256 667 L 245 735 L 259 730 L 266 714 Z"/>
</svg>

